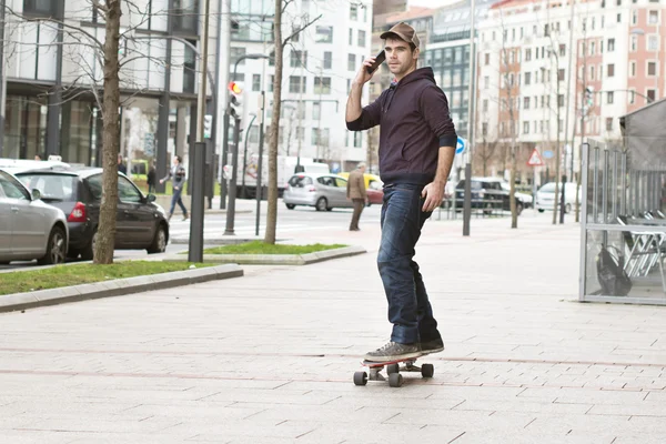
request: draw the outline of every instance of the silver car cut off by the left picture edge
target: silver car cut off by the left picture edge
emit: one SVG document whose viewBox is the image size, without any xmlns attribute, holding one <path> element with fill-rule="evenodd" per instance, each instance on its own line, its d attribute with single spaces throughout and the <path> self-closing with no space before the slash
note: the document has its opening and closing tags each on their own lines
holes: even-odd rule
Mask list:
<svg viewBox="0 0 666 444">
<path fill-rule="evenodd" d="M 0 170 L 0 263 L 63 263 L 68 239 L 62 210 L 42 202 L 37 190 L 31 195 L 17 178 Z"/>
</svg>

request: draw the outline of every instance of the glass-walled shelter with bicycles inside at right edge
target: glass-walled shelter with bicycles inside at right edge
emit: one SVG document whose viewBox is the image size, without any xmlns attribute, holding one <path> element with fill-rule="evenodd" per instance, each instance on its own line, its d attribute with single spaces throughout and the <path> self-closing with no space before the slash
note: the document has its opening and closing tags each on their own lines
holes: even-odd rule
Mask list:
<svg viewBox="0 0 666 444">
<path fill-rule="evenodd" d="M 666 305 L 665 117 L 653 103 L 583 144 L 581 301 Z"/>
</svg>

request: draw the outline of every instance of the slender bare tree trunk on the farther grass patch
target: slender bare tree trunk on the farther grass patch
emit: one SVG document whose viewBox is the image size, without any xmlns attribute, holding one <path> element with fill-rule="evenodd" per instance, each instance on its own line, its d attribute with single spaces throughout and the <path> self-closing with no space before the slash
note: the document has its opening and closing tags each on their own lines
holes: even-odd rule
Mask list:
<svg viewBox="0 0 666 444">
<path fill-rule="evenodd" d="M 282 101 L 282 0 L 275 0 L 274 20 L 275 78 L 273 80 L 273 113 L 269 129 L 269 210 L 264 243 L 275 243 L 278 228 L 278 143 L 280 142 L 280 110 Z"/>
</svg>

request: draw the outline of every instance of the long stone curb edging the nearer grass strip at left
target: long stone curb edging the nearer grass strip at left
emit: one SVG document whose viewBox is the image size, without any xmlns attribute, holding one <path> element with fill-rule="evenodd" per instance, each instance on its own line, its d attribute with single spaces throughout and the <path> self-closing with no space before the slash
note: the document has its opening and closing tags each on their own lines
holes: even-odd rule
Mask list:
<svg viewBox="0 0 666 444">
<path fill-rule="evenodd" d="M 239 278 L 242 275 L 243 270 L 240 266 L 236 264 L 226 264 L 128 279 L 115 279 L 93 284 L 61 286 L 59 289 L 39 290 L 30 293 L 13 293 L 0 296 L 0 313 L 100 297 L 122 296 L 151 290 L 172 289 L 174 286 Z"/>
</svg>

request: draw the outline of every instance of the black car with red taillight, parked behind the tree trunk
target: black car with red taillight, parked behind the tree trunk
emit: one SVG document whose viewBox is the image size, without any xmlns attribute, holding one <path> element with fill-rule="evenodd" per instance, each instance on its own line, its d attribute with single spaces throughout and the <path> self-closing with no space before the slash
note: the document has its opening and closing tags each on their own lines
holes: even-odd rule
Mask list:
<svg viewBox="0 0 666 444">
<path fill-rule="evenodd" d="M 67 215 L 70 259 L 91 260 L 102 202 L 102 169 L 24 170 L 16 174 L 29 189 Z M 169 242 L 169 222 L 155 196 L 143 193 L 124 174 L 118 174 L 115 249 L 162 253 Z"/>
</svg>

